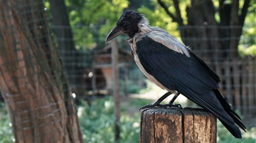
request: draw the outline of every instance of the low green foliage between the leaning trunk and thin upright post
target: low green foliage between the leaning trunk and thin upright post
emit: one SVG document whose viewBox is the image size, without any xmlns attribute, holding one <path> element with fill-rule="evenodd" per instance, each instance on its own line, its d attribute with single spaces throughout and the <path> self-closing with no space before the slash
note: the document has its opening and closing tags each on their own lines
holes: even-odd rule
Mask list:
<svg viewBox="0 0 256 143">
<path fill-rule="evenodd" d="M 113 102 L 101 99 L 90 107 L 84 103 L 78 117 L 85 142 L 114 142 Z"/>
</svg>

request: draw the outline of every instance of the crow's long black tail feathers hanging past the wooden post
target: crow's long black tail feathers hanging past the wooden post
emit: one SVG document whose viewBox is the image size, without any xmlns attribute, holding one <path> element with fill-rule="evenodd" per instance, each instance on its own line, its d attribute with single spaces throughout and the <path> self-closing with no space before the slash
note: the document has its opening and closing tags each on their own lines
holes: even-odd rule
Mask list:
<svg viewBox="0 0 256 143">
<path fill-rule="evenodd" d="M 187 88 L 179 89 L 178 92 L 180 92 L 183 95 L 186 95 L 188 99 L 206 108 L 211 113 L 214 113 L 214 115 L 217 116 L 217 118 L 221 121 L 221 123 L 227 128 L 227 130 L 234 137 L 242 138 L 241 131 L 238 128 L 238 126 L 241 127 L 243 130 L 245 130 L 245 126 L 240 121 L 240 117 L 237 115 L 236 112 L 234 112 L 231 109 L 230 105 L 225 101 L 225 99 L 222 97 L 222 95 L 219 93 L 218 90 L 209 91 L 204 95 L 198 95 L 193 90 L 189 90 Z M 208 98 L 211 97 L 211 98 L 208 99 L 207 97 Z"/>
</svg>

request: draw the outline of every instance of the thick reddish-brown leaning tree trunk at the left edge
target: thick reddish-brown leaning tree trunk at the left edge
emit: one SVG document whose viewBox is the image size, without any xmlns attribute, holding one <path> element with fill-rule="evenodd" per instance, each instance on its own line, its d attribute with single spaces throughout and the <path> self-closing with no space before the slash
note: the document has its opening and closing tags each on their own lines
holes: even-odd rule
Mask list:
<svg viewBox="0 0 256 143">
<path fill-rule="evenodd" d="M 83 142 L 41 1 L 0 1 L 0 87 L 15 142 Z"/>
</svg>

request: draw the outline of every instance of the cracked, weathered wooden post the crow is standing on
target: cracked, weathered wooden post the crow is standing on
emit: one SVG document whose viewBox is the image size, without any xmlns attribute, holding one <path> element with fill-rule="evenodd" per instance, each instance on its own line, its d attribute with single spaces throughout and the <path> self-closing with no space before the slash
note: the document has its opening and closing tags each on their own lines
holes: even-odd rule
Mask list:
<svg viewBox="0 0 256 143">
<path fill-rule="evenodd" d="M 216 117 L 201 108 L 145 108 L 141 112 L 140 143 L 214 143 L 216 123 Z"/>
</svg>

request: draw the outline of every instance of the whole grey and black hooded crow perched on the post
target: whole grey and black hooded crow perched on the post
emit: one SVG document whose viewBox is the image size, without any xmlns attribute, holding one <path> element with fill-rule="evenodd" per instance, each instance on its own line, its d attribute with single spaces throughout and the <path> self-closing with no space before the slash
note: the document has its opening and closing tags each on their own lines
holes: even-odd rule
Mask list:
<svg viewBox="0 0 256 143">
<path fill-rule="evenodd" d="M 220 77 L 191 49 L 165 30 L 150 26 L 144 15 L 135 11 L 123 12 L 106 42 L 122 33 L 130 37 L 132 54 L 140 70 L 168 91 L 155 103 L 142 108 L 161 106 L 159 103 L 164 98 L 176 92 L 169 102 L 171 105 L 181 93 L 214 113 L 234 137 L 242 138 L 238 126 L 244 131 L 246 128 L 219 92 Z"/>
</svg>

